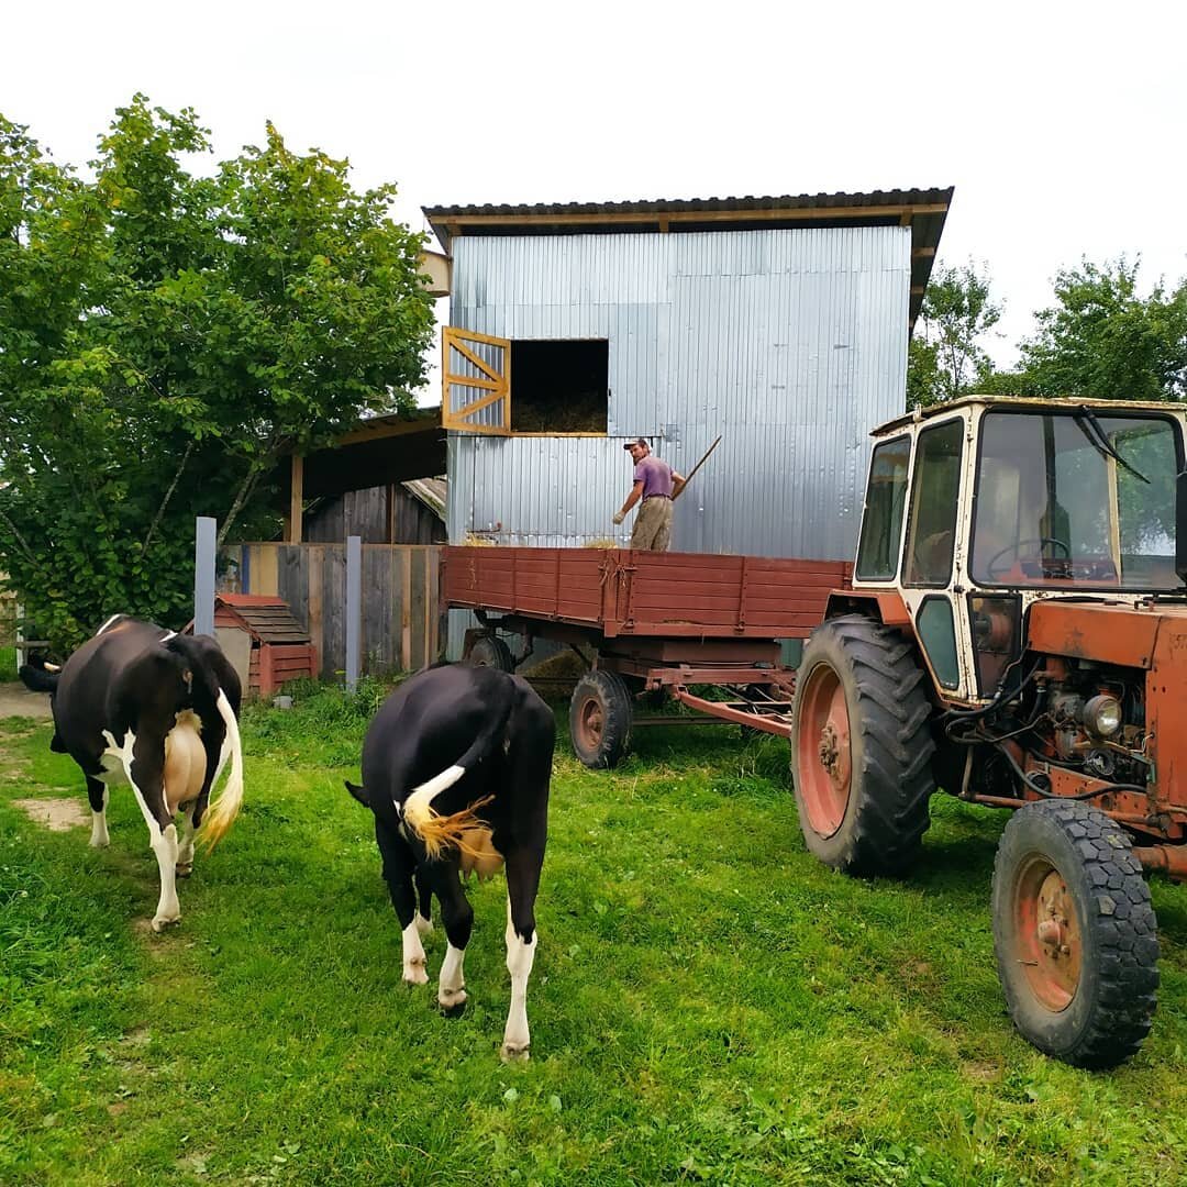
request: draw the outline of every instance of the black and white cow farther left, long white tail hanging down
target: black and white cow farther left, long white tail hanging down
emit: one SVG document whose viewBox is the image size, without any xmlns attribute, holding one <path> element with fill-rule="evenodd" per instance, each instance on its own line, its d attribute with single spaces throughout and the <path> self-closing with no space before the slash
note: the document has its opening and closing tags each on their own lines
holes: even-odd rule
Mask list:
<svg viewBox="0 0 1187 1187">
<path fill-rule="evenodd" d="M 193 868 L 196 830 L 201 825 L 202 839 L 214 846 L 243 801 L 235 669 L 212 639 L 115 615 L 61 671 L 24 666 L 20 677 L 51 694 L 50 749 L 69 754 L 87 776 L 91 845 L 108 844 L 108 785 L 132 785 L 160 868 L 153 931 L 176 923 L 176 877 Z M 227 786 L 207 814 L 228 758 Z M 173 819 L 179 811 L 180 838 Z"/>
</svg>

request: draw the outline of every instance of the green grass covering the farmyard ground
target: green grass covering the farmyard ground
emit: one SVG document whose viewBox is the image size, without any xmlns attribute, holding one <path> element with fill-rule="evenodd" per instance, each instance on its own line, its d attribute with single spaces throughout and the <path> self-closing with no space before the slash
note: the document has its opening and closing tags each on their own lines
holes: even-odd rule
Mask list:
<svg viewBox="0 0 1187 1187">
<path fill-rule="evenodd" d="M 846 880 L 804 849 L 786 745 L 729 729 L 639 731 L 612 774 L 561 743 L 533 1058 L 503 1066 L 501 877 L 471 889 L 464 1016 L 400 983 L 370 818 L 342 788 L 373 705 L 246 716 L 243 815 L 161 937 L 132 795 L 106 851 L 40 830 L 9 800 L 81 780 L 47 725 L 0 722 L 0 1182 L 1187 1175 L 1187 893 L 1154 886 L 1140 1056 L 1068 1068 L 1016 1035 L 997 985 L 1004 817 L 938 796 L 907 881 Z M 436 977 L 439 929 L 427 948 Z"/>
</svg>

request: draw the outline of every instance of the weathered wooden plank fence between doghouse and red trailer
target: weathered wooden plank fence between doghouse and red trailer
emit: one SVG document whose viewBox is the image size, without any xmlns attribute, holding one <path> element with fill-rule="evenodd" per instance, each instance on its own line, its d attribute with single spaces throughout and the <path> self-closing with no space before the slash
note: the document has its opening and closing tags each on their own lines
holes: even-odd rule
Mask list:
<svg viewBox="0 0 1187 1187">
<path fill-rule="evenodd" d="M 436 661 L 444 642 L 440 548 L 364 544 L 362 559 L 361 671 L 414 672 Z M 222 561 L 220 569 L 235 575 L 231 592 L 283 597 L 310 633 L 322 678 L 341 678 L 347 666 L 344 544 L 229 545 Z"/>
</svg>

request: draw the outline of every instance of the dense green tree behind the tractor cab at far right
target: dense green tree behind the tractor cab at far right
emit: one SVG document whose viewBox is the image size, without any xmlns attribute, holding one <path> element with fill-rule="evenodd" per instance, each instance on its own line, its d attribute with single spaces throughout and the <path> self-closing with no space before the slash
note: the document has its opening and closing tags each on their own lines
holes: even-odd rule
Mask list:
<svg viewBox="0 0 1187 1187">
<path fill-rule="evenodd" d="M 1087 260 L 1055 279 L 1023 370 L 1041 395 L 1181 400 L 1187 395 L 1187 284 L 1137 293 L 1138 261 Z"/>
</svg>

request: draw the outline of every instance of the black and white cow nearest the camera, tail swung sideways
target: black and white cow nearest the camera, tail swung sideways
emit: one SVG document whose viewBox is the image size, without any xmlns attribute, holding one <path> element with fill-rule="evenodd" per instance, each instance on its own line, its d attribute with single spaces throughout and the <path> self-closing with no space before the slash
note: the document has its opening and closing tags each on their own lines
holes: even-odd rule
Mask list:
<svg viewBox="0 0 1187 1187">
<path fill-rule="evenodd" d="M 447 1013 L 465 1004 L 462 961 L 474 926 L 459 875 L 490 877 L 506 865 L 512 1004 L 503 1059 L 528 1055 L 527 982 L 556 732 L 552 711 L 520 677 L 493 667 L 433 667 L 383 703 L 363 742 L 363 785 L 347 783 L 375 814 L 411 984 L 429 980 L 421 935 L 432 931 L 432 895 L 440 901 L 449 947 L 437 1001 Z"/>
</svg>

